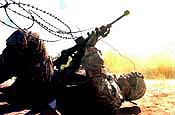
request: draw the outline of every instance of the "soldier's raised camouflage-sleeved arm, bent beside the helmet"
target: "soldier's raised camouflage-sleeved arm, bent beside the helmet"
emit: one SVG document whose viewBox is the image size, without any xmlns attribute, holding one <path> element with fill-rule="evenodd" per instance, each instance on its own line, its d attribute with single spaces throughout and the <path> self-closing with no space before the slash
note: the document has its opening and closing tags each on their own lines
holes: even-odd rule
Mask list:
<svg viewBox="0 0 175 115">
<path fill-rule="evenodd" d="M 114 80 L 109 81 L 100 51 L 94 47 L 87 48 L 82 63 L 96 90 L 97 101 L 111 111 L 118 109 L 122 104 L 120 89 Z"/>
</svg>

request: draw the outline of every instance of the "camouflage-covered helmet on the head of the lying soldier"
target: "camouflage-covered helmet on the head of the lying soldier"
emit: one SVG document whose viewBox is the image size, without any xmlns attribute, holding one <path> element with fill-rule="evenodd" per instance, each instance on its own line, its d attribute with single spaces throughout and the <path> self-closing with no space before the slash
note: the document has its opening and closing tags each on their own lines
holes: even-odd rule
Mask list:
<svg viewBox="0 0 175 115">
<path fill-rule="evenodd" d="M 146 92 L 144 76 L 139 72 L 123 74 L 117 81 L 125 101 L 140 99 Z"/>
</svg>

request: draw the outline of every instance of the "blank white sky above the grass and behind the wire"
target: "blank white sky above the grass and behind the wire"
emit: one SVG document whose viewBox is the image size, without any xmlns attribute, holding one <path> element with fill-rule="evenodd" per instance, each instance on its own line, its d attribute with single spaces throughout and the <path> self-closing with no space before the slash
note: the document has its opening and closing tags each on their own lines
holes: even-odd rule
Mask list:
<svg viewBox="0 0 175 115">
<path fill-rule="evenodd" d="M 53 12 L 74 30 L 100 27 L 118 18 L 125 10 L 130 10 L 129 16 L 112 26 L 110 34 L 104 41 L 122 54 L 148 57 L 166 52 L 175 58 L 174 0 L 21 0 L 21 2 L 34 4 Z M 0 12 L 3 10 L 0 9 Z M 1 15 L 0 19 L 7 21 L 5 15 Z M 19 22 L 26 23 L 22 19 L 17 21 Z M 30 30 L 39 32 L 43 39 L 55 38 L 36 25 Z M 13 31 L 14 29 L 0 24 L 0 51 L 5 47 L 5 40 Z M 47 45 L 50 55 L 57 55 L 59 51 L 73 44 L 72 40 L 61 40 Z M 112 49 L 104 42 L 99 42 L 98 47 L 101 50 Z"/>
</svg>

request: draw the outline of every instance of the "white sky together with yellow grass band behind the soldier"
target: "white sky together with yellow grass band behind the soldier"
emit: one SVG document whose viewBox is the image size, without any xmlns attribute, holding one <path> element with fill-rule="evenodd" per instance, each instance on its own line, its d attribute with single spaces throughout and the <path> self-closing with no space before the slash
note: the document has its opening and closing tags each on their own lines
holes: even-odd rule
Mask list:
<svg viewBox="0 0 175 115">
<path fill-rule="evenodd" d="M 101 41 L 97 44 L 97 47 L 104 52 L 107 67 L 111 72 L 138 70 L 149 75 L 153 72 L 155 75 L 162 74 L 166 77 L 174 77 L 174 0 L 20 1 L 33 4 L 55 14 L 73 31 L 100 27 L 122 15 L 125 10 L 130 10 L 129 16 L 112 26 L 110 34 L 103 39 L 105 42 Z M 0 0 L 0 2 L 2 3 L 4 0 Z M 10 23 L 3 9 L 0 9 L 0 14 L 0 20 Z M 23 18 L 16 19 L 16 16 L 13 15 L 12 17 L 17 24 L 19 23 L 24 28 L 27 26 L 28 23 Z M 54 21 L 53 24 L 56 23 Z M 39 32 L 42 39 L 58 39 L 41 29 L 37 24 L 30 30 Z M 14 29 L 0 23 L 0 52 L 5 48 L 5 40 L 13 31 Z M 92 29 L 88 31 L 92 31 Z M 86 36 L 87 32 L 79 33 L 79 35 Z M 49 54 L 56 56 L 62 49 L 73 46 L 74 41 L 61 40 L 46 44 Z M 166 72 L 162 73 L 165 70 Z"/>
</svg>

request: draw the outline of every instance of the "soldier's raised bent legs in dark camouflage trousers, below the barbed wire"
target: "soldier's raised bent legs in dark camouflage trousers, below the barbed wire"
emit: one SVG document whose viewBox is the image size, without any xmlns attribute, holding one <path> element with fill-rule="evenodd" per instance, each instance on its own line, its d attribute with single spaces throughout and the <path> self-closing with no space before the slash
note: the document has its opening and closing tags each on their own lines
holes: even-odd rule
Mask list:
<svg viewBox="0 0 175 115">
<path fill-rule="evenodd" d="M 53 64 L 38 33 L 16 30 L 7 39 L 0 59 L 0 79 L 17 77 L 11 87 L 3 89 L 10 102 L 22 101 L 33 106 L 47 106 L 51 100 Z M 8 100 L 8 101 L 9 101 Z"/>
</svg>

